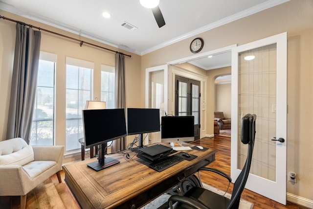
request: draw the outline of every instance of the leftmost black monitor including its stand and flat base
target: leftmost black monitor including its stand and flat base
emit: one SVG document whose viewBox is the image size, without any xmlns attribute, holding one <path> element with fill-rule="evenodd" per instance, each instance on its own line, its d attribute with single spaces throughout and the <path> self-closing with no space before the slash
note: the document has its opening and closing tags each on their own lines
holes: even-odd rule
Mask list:
<svg viewBox="0 0 313 209">
<path fill-rule="evenodd" d="M 106 142 L 127 136 L 124 109 L 83 110 L 83 125 L 86 147 L 101 144 L 98 162 L 87 164 L 99 171 L 119 161 L 105 158 Z"/>
</svg>

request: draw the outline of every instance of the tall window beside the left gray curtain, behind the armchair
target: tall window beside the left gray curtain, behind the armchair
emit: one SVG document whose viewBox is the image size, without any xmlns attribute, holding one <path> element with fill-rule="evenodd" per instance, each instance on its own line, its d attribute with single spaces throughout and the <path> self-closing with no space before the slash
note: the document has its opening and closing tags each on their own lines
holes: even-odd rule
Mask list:
<svg viewBox="0 0 313 209">
<path fill-rule="evenodd" d="M 54 74 L 57 56 L 40 52 L 30 145 L 54 145 Z"/>
</svg>

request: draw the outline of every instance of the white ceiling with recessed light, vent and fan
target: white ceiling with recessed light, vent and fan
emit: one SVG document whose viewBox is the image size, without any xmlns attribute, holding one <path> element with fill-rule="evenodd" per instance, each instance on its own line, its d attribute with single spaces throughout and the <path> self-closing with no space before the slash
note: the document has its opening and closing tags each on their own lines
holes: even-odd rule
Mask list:
<svg viewBox="0 0 313 209">
<path fill-rule="evenodd" d="M 139 0 L 0 0 L 0 9 L 143 55 L 286 1 L 160 0 L 166 23 L 161 28 L 151 9 L 142 7 Z M 104 11 L 112 17 L 103 18 Z M 124 22 L 138 29 L 121 26 Z M 229 54 L 218 57 L 224 62 L 217 60 L 214 66 L 230 64 Z M 216 68 L 207 63 L 193 62 L 205 70 Z"/>
</svg>

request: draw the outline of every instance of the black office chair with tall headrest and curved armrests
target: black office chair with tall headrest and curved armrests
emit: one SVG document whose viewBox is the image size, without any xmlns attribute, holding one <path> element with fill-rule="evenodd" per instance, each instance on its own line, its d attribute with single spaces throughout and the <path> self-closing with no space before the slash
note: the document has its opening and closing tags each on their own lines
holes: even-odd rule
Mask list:
<svg viewBox="0 0 313 209">
<path fill-rule="evenodd" d="M 240 196 L 246 185 L 246 180 L 249 175 L 252 152 L 254 146 L 255 138 L 255 119 L 256 115 L 246 114 L 241 120 L 241 141 L 244 144 L 248 144 L 248 152 L 246 163 L 239 174 L 237 180 L 234 183 L 233 192 L 231 199 L 224 197 L 222 195 L 216 194 L 209 191 L 203 187 L 195 186 L 190 188 L 185 194 L 182 195 L 172 195 L 168 204 L 171 209 L 173 209 L 173 204 L 175 209 L 238 209 Z M 231 183 L 231 178 L 222 171 L 214 168 L 200 168 L 199 171 L 211 171 L 222 175 L 228 179 L 229 184 Z M 199 176 L 200 177 L 200 176 Z"/>
</svg>

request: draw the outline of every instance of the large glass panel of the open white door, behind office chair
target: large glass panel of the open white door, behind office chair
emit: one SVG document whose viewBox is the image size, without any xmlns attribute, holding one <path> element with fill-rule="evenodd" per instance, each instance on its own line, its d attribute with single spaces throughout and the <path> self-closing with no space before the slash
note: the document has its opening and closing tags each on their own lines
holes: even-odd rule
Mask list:
<svg viewBox="0 0 313 209">
<path fill-rule="evenodd" d="M 246 61 L 245 57 L 252 54 L 255 58 Z M 276 144 L 268 139 L 276 136 L 276 44 L 240 52 L 238 62 L 238 124 L 247 113 L 257 115 L 250 173 L 275 181 Z M 238 145 L 237 168 L 241 169 L 246 162 L 247 146 L 240 141 Z"/>
</svg>

